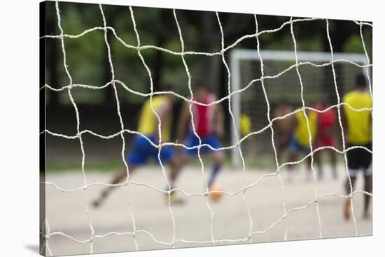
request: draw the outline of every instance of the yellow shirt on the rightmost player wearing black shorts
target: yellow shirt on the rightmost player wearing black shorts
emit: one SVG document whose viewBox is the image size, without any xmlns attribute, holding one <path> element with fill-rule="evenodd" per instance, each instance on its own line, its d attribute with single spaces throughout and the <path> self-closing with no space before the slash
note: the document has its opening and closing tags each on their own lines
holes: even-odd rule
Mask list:
<svg viewBox="0 0 385 257">
<path fill-rule="evenodd" d="M 353 90 L 342 99 L 354 109 L 372 108 L 372 98 L 365 91 Z M 369 110 L 356 112 L 344 105 L 347 123 L 347 142 L 352 145 L 366 145 L 372 142 L 372 117 Z"/>
</svg>

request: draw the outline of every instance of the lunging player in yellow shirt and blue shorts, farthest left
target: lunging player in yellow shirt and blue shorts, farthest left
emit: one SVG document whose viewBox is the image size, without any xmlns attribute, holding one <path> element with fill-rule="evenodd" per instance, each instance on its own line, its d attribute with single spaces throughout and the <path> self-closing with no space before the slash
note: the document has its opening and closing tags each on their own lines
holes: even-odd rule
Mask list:
<svg viewBox="0 0 385 257">
<path fill-rule="evenodd" d="M 164 91 L 171 90 L 170 86 L 162 87 Z M 174 101 L 174 96 L 172 94 L 156 95 L 153 96 L 153 109 L 160 117 L 161 124 L 161 135 L 162 142 L 169 142 L 170 139 L 170 130 L 172 124 L 172 104 Z M 150 99 L 144 102 L 144 105 L 141 108 L 139 125 L 137 131 L 146 136 L 135 135 L 134 141 L 130 146 L 130 152 L 126 156 L 126 161 L 130 175 L 138 167 L 146 163 L 148 158 L 153 158 L 158 162 L 158 148 L 151 145 L 153 142 L 155 145 L 159 143 L 159 131 L 158 131 L 158 117 L 153 112 L 151 108 Z M 148 142 L 151 140 L 151 142 Z M 160 151 L 160 159 L 162 163 L 167 163 L 170 169 L 169 183 L 172 189 L 174 188 L 174 182 L 176 180 L 178 171 L 179 171 L 179 161 L 174 154 L 174 149 L 172 146 L 163 146 Z M 123 182 L 123 179 L 127 178 L 127 170 L 123 169 L 121 172 L 118 172 L 112 179 L 110 184 L 119 184 Z M 94 200 L 94 207 L 99 206 L 102 201 L 109 196 L 109 193 L 115 187 L 107 187 L 102 194 Z M 171 195 L 172 203 L 181 203 L 181 199 L 173 192 Z"/>
</svg>

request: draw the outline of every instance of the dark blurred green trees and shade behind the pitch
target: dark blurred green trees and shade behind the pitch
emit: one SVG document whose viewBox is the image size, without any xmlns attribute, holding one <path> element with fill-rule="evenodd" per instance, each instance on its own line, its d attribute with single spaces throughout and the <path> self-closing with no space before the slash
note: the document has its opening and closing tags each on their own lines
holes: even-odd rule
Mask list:
<svg viewBox="0 0 385 257">
<path fill-rule="evenodd" d="M 103 27 L 102 15 L 98 5 L 60 2 L 59 9 L 64 34 L 80 34 L 85 29 Z M 126 43 L 137 45 L 129 8 L 127 6 L 103 5 L 103 9 L 107 26 L 115 28 L 118 36 L 123 38 Z M 157 45 L 173 51 L 181 50 L 172 9 L 133 7 L 133 10 L 141 45 Z M 186 51 L 219 52 L 221 50 L 221 32 L 214 12 L 176 10 L 176 15 L 181 25 Z M 219 13 L 219 16 L 223 25 L 225 46 L 234 43 L 241 36 L 255 33 L 253 15 Z M 257 17 L 259 31 L 276 29 L 283 22 L 290 20 L 290 17 L 283 16 L 257 15 Z M 330 20 L 329 23 L 330 38 L 335 52 L 363 53 L 360 27 L 357 24 L 344 20 Z M 297 50 L 330 52 L 325 20 L 299 22 L 293 26 Z M 51 1 L 46 2 L 45 34 L 59 34 L 55 3 Z M 371 57 L 372 30 L 370 27 L 363 27 L 363 36 L 367 51 Z M 262 50 L 293 50 L 290 26 L 286 26 L 281 31 L 273 34 L 263 34 L 259 39 Z M 55 88 L 68 85 L 69 80 L 64 71 L 60 40 L 53 38 L 43 38 L 42 40 L 45 41 L 45 83 Z M 136 91 L 150 92 L 148 75 L 137 51 L 128 49 L 118 42 L 111 31 L 108 32 L 108 40 L 111 45 L 116 79 L 123 81 L 127 87 Z M 101 86 L 111 80 L 111 69 L 106 44 L 104 43 L 104 31 L 94 31 L 76 39 L 65 38 L 64 43 L 66 63 L 73 78 L 73 83 Z M 255 38 L 244 40 L 236 47 L 256 49 Z M 163 83 L 171 83 L 177 93 L 189 97 L 188 77 L 181 57 L 158 50 L 143 50 L 141 53 L 146 60 L 146 64 L 151 68 L 155 91 Z M 226 52 L 225 57 L 229 63 L 230 52 Z M 211 90 L 218 94 L 219 98 L 228 95 L 228 77 L 221 57 L 186 55 L 186 61 L 192 75 L 192 85 L 197 80 L 204 80 L 210 85 Z M 342 86 L 344 85 L 342 82 L 343 76 L 340 75 L 342 66 L 336 64 L 335 68 L 337 84 L 341 85 L 339 86 L 339 94 L 342 95 L 347 90 Z M 255 68 L 255 71 L 258 71 L 258 67 Z M 332 78 L 331 68 L 324 68 L 324 73 L 323 90 L 328 92 L 328 98 L 332 103 L 335 103 L 334 85 L 330 83 Z M 259 78 L 259 76 L 260 74 L 255 72 L 255 78 Z M 261 89 L 255 87 L 255 90 L 260 91 Z M 67 91 L 52 91 L 50 89 L 42 89 L 42 91 L 45 94 L 45 96 L 41 97 L 45 97 L 46 129 L 55 133 L 75 135 L 76 116 Z M 89 129 L 103 135 L 110 135 L 120 131 L 113 87 L 99 90 L 73 88 L 71 92 L 79 109 L 80 130 Z M 125 128 L 135 130 L 138 111 L 145 98 L 131 94 L 120 87 L 118 87 L 118 94 Z M 300 105 L 297 98 L 291 100 L 293 105 Z M 255 101 L 265 100 L 260 98 L 255 99 Z M 276 103 L 276 100 L 271 102 L 272 108 Z M 181 104 L 182 101 L 177 99 L 174 105 L 174 120 L 177 120 Z M 227 110 L 228 101 L 223 101 L 221 104 Z M 260 110 L 260 112 L 265 114 L 265 110 Z M 225 112 L 225 126 L 226 131 L 230 131 L 230 115 L 228 112 Z M 125 136 L 127 142 L 130 142 L 130 135 L 126 133 Z M 268 138 L 268 135 L 266 137 Z M 85 134 L 83 140 L 87 160 L 99 163 L 99 168 L 103 168 L 101 163 L 110 166 L 110 163 L 121 161 L 120 151 L 122 145 L 119 137 L 102 140 Z M 230 143 L 230 133 L 227 133 L 224 142 L 225 145 Z M 66 140 L 46 135 L 46 144 L 47 161 L 48 164 L 55 163 L 52 166 L 54 169 L 63 168 L 67 165 L 71 166 L 71 163 L 80 163 L 81 153 L 78 140 Z"/>
</svg>

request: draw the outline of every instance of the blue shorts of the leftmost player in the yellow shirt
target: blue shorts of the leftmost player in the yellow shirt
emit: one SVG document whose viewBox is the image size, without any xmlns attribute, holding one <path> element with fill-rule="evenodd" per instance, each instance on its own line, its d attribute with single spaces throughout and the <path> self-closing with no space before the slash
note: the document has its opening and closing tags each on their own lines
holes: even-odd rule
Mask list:
<svg viewBox="0 0 385 257">
<path fill-rule="evenodd" d="M 147 136 L 151 142 L 155 142 L 155 137 Z M 150 142 L 141 135 L 135 135 L 134 142 L 131 145 L 130 152 L 126 156 L 129 165 L 139 166 L 146 163 L 148 157 L 152 157 L 158 162 L 159 149 L 151 145 Z M 167 163 L 174 157 L 174 149 L 171 145 L 166 145 L 160 150 L 160 160 Z"/>
</svg>

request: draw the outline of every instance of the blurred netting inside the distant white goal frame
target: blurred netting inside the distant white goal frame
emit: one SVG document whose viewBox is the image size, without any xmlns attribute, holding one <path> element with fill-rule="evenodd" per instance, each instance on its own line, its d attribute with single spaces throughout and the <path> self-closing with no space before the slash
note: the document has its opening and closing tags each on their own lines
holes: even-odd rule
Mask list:
<svg viewBox="0 0 385 257">
<path fill-rule="evenodd" d="M 318 54 L 317 52 L 314 55 Z M 263 59 L 263 58 L 262 58 Z M 240 68 L 240 85 L 247 85 L 253 78 L 260 78 L 262 76 L 260 66 L 263 64 L 264 75 L 274 75 L 280 71 L 293 65 L 293 61 L 286 60 L 272 60 L 267 59 L 260 61 L 256 59 L 239 59 L 238 62 Z M 303 95 L 307 106 L 313 106 L 314 103 L 318 103 L 323 98 L 332 98 L 330 105 L 337 104 L 337 97 L 334 88 L 334 78 L 332 69 L 330 66 L 321 66 L 321 61 L 314 61 L 317 66 L 301 66 L 300 74 L 303 84 L 305 85 Z M 354 80 L 356 74 L 363 72 L 363 68 L 353 66 L 348 63 L 339 63 L 339 73 L 337 75 L 337 82 L 339 85 L 339 94 L 344 94 L 347 91 L 353 89 Z M 283 73 L 274 80 L 264 80 L 265 91 L 267 98 L 269 99 L 269 105 L 274 109 L 281 101 L 287 101 L 294 108 L 302 105 L 301 91 L 298 86 L 298 77 L 295 70 L 290 69 L 286 73 Z M 287 89 L 290 88 L 290 91 Z M 251 121 L 251 131 L 258 131 L 267 126 L 270 122 L 266 118 L 265 112 L 267 112 L 266 100 L 264 97 L 264 91 L 261 87 L 261 82 L 253 87 L 249 87 L 244 91 L 244 94 L 240 96 L 240 112 L 242 115 L 246 115 Z M 274 118 L 276 114 L 269 112 L 269 117 Z M 337 133 L 337 135 L 340 135 Z M 266 154 L 267 152 L 273 152 L 272 145 L 269 142 L 270 138 L 267 133 L 262 133 L 257 137 L 248 138 L 244 142 L 244 149 L 246 149 L 247 157 L 252 156 L 255 153 L 258 156 Z M 339 142 L 342 138 L 338 138 Z M 249 161 L 250 164 L 251 161 Z"/>
</svg>

